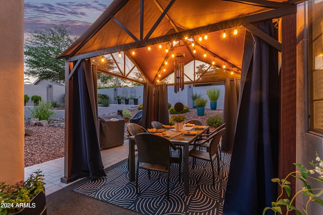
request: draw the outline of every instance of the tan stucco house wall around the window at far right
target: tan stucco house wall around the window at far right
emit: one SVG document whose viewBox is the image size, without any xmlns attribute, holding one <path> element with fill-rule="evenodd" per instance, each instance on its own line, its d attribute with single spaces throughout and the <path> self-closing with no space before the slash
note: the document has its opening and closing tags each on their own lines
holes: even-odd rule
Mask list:
<svg viewBox="0 0 323 215">
<path fill-rule="evenodd" d="M 299 4 L 297 7 L 297 116 L 296 116 L 296 163 L 303 164 L 305 168 L 312 169 L 309 162 L 315 160 L 317 151 L 323 156 L 323 138 L 319 135 L 308 132 L 308 83 L 307 83 L 307 8 L 306 3 Z M 322 11 L 323 13 L 323 11 Z M 312 188 L 322 187 L 322 183 L 308 181 Z M 296 180 L 296 192 L 304 184 Z M 305 208 L 308 197 L 298 195 L 296 199 L 297 208 Z M 323 207 L 316 202 L 310 202 L 308 214 L 323 214 Z"/>
</svg>

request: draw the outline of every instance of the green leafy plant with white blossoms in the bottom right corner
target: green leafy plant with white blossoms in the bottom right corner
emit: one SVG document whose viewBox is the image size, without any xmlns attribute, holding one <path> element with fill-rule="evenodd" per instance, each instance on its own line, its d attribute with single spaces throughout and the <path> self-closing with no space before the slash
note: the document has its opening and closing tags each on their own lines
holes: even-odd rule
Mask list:
<svg viewBox="0 0 323 215">
<path fill-rule="evenodd" d="M 296 198 L 296 196 L 300 193 L 302 193 L 302 196 L 308 196 L 308 201 L 306 202 L 305 208 L 303 208 L 303 211 L 305 214 L 308 214 L 308 205 L 310 202 L 315 201 L 319 203 L 321 206 L 323 206 L 323 200 L 321 200 L 319 197 L 323 194 L 323 188 L 312 188 L 311 185 L 308 184 L 307 179 L 313 179 L 314 181 L 318 181 L 323 183 L 323 161 L 318 157 L 318 154 L 316 152 L 316 159 L 317 163 L 314 163 L 314 161 L 310 162 L 310 164 L 314 167 L 314 169 L 307 170 L 303 167 L 302 164 L 293 163 L 296 167 L 300 168 L 300 170 L 297 170 L 295 172 L 289 173 L 284 179 L 279 178 L 273 178 L 272 181 L 275 183 L 278 183 L 281 187 L 281 194 L 278 196 L 276 202 L 272 202 L 272 207 L 265 207 L 263 209 L 262 214 L 264 215 L 266 210 L 273 210 L 275 214 L 282 212 L 282 206 L 285 206 L 287 209 L 286 214 L 288 214 L 289 211 L 294 210 L 297 212 L 297 214 L 302 214 L 302 212 L 297 209 L 293 203 Z M 310 176 L 313 175 L 313 176 Z M 301 187 L 302 189 L 299 190 L 293 197 L 290 198 L 291 194 L 291 187 L 289 184 L 291 184 L 289 181 L 287 181 L 288 177 L 295 177 L 296 179 L 301 180 L 304 183 L 304 186 Z M 282 198 L 282 195 L 285 192 L 287 193 L 287 196 L 289 198 Z"/>
</svg>

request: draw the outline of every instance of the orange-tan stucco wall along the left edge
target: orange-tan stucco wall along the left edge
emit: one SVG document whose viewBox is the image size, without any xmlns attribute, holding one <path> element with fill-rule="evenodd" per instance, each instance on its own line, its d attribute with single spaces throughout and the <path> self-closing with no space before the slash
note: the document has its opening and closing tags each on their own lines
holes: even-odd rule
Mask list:
<svg viewBox="0 0 323 215">
<path fill-rule="evenodd" d="M 0 1 L 0 182 L 24 179 L 24 1 Z"/>
</svg>

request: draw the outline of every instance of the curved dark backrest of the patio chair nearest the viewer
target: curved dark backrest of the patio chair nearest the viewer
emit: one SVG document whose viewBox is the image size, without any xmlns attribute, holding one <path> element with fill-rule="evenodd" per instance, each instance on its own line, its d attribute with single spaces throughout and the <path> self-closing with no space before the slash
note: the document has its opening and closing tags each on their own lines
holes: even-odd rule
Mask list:
<svg viewBox="0 0 323 215">
<path fill-rule="evenodd" d="M 170 165 L 170 146 L 174 145 L 170 140 L 152 133 L 139 133 L 135 135 L 135 141 L 138 162 Z"/>
</svg>

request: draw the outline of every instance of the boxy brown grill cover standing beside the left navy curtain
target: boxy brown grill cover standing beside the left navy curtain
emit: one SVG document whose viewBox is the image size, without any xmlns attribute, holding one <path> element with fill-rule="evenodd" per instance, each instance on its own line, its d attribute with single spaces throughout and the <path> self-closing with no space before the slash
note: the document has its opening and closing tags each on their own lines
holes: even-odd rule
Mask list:
<svg viewBox="0 0 323 215">
<path fill-rule="evenodd" d="M 124 133 L 125 120 L 122 116 L 99 116 L 99 140 L 101 149 L 123 145 Z"/>
</svg>

